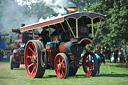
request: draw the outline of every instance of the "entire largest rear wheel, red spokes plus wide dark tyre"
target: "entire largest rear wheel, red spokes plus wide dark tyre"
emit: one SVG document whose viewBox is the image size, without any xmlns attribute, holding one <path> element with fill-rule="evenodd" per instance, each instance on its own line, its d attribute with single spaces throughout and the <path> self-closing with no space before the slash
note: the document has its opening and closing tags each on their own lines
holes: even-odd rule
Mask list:
<svg viewBox="0 0 128 85">
<path fill-rule="evenodd" d="M 38 40 L 31 40 L 25 48 L 25 69 L 31 78 L 40 78 L 45 72 L 41 66 L 41 47 Z"/>
</svg>

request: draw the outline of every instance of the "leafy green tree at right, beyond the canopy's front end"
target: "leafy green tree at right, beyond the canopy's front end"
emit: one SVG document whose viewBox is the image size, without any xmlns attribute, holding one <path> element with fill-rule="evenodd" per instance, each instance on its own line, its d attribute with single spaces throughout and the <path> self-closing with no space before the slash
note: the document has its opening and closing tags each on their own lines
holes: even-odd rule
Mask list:
<svg viewBox="0 0 128 85">
<path fill-rule="evenodd" d="M 106 15 L 105 23 L 100 25 L 94 42 L 111 47 L 128 42 L 128 0 L 99 0 L 92 5 L 86 4 L 86 11 Z M 98 25 L 97 25 L 98 26 Z M 96 27 L 97 27 L 96 26 Z"/>
</svg>

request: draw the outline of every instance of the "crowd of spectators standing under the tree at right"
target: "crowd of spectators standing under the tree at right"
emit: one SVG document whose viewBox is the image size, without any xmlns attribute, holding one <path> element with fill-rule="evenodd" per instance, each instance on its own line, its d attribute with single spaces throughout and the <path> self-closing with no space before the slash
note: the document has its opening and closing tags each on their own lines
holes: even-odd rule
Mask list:
<svg viewBox="0 0 128 85">
<path fill-rule="evenodd" d="M 120 50 L 116 47 L 113 51 L 104 47 L 104 49 L 96 46 L 94 50 L 95 56 L 98 60 L 98 73 L 100 72 L 101 63 L 105 64 L 105 59 L 114 63 L 125 63 L 128 64 L 128 55 L 124 56 L 123 48 Z"/>
</svg>

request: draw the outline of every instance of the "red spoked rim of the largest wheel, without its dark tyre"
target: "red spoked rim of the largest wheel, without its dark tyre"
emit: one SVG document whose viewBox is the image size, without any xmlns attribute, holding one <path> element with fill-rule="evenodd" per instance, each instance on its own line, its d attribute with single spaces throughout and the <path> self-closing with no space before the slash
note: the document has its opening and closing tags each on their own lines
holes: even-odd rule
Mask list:
<svg viewBox="0 0 128 85">
<path fill-rule="evenodd" d="M 37 72 L 37 50 L 32 41 L 28 42 L 25 49 L 25 68 L 29 77 L 33 78 Z"/>
</svg>

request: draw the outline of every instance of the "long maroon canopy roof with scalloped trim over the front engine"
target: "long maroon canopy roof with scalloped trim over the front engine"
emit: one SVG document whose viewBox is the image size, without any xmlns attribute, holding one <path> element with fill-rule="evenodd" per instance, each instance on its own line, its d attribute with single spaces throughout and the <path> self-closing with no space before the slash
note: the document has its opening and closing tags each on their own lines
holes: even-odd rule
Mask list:
<svg viewBox="0 0 128 85">
<path fill-rule="evenodd" d="M 105 16 L 102 15 L 102 14 L 98 14 L 98 13 L 94 13 L 94 12 L 81 12 L 81 13 L 75 12 L 75 13 L 67 14 L 67 15 L 57 17 L 57 18 L 54 18 L 54 19 L 51 19 L 51 20 L 46 20 L 46 21 L 41 22 L 41 23 L 34 23 L 34 24 L 31 24 L 31 25 L 21 27 L 20 31 L 24 32 L 24 31 L 28 31 L 28 30 L 37 29 L 37 28 L 40 28 L 40 27 L 47 27 L 47 26 L 50 26 L 50 25 L 62 23 L 62 22 L 64 22 L 65 20 L 67 20 L 69 18 L 80 19 L 83 16 L 87 17 L 87 18 L 84 18 L 84 19 L 87 19 L 87 21 L 89 21 L 88 23 L 90 23 L 90 24 L 91 24 L 91 19 L 93 19 L 93 23 L 99 22 L 100 19 L 105 20 Z"/>
</svg>

